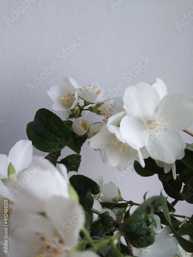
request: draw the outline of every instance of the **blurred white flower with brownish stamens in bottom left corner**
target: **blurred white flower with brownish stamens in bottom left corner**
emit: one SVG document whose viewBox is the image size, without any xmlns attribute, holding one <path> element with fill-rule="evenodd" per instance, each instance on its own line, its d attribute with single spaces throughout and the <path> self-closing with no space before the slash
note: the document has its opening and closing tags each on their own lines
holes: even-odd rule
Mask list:
<svg viewBox="0 0 193 257">
<path fill-rule="evenodd" d="M 84 211 L 75 201 L 61 196 L 45 199 L 45 214 L 15 210 L 9 218 L 8 256 L 76 256 L 84 224 Z"/>
</svg>

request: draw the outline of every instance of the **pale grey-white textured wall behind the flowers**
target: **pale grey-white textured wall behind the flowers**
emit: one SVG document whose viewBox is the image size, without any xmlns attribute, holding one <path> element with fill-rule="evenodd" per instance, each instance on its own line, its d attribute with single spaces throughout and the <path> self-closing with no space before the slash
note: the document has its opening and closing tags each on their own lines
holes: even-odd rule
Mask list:
<svg viewBox="0 0 193 257">
<path fill-rule="evenodd" d="M 36 111 L 51 110 L 47 90 L 62 85 L 68 75 L 81 86 L 100 83 L 114 96 L 139 81 L 151 84 L 156 77 L 166 83 L 169 94 L 192 94 L 190 0 L 1 0 L 0 5 L 1 153 L 8 154 L 16 141 L 27 139 L 26 125 Z M 78 37 L 81 41 L 75 40 Z M 149 60 L 143 62 L 145 67 L 136 68 L 143 58 Z M 42 72 L 53 62 L 55 68 L 45 78 Z M 34 84 L 37 77 L 39 85 Z M 113 89 L 117 84 L 121 90 Z M 192 142 L 188 135 L 184 139 Z M 80 173 L 91 178 L 102 174 L 105 182 L 114 181 L 121 188 L 124 198 L 141 202 L 146 191 L 148 196 L 160 194 L 156 175 L 117 173 L 86 144 L 81 154 Z M 192 214 L 187 204 L 177 209 L 179 214 Z"/>
</svg>

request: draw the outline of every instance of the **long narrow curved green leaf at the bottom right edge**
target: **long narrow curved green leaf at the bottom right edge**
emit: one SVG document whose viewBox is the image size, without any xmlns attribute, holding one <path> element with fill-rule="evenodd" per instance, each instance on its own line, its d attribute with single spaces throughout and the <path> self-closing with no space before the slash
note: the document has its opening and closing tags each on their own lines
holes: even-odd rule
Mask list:
<svg viewBox="0 0 193 257">
<path fill-rule="evenodd" d="M 170 227 L 171 232 L 174 234 L 174 236 L 177 238 L 178 243 L 181 245 L 181 247 L 187 251 L 187 252 L 193 252 L 193 242 L 190 242 L 188 240 L 186 240 L 184 237 L 182 237 L 177 231 L 176 229 L 173 228 L 173 226 L 171 225 L 171 219 L 170 219 L 170 215 L 169 215 L 169 211 L 168 211 L 168 207 L 167 207 L 167 201 L 165 200 L 165 203 L 163 205 L 163 213 L 164 216 L 167 220 L 167 225 Z"/>
</svg>

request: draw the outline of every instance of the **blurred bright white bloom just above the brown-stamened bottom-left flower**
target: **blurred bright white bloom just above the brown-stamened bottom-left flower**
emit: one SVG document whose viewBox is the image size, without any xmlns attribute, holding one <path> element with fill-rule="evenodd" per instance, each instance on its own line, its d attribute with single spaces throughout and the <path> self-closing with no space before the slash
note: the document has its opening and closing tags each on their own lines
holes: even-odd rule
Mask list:
<svg viewBox="0 0 193 257">
<path fill-rule="evenodd" d="M 64 165 L 61 169 L 67 174 Z M 6 185 L 14 194 L 14 208 L 26 212 L 44 212 L 45 200 L 51 196 L 69 198 L 67 175 L 61 175 L 51 162 L 39 156 L 33 157 L 30 167 L 17 180 L 8 180 Z"/>
</svg>

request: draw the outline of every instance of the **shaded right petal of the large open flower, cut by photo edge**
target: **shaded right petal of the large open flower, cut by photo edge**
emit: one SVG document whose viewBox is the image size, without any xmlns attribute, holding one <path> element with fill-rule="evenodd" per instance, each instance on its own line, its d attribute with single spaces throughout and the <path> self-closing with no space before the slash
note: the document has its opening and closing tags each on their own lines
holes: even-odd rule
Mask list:
<svg viewBox="0 0 193 257">
<path fill-rule="evenodd" d="M 185 95 L 165 96 L 157 106 L 168 126 L 185 130 L 193 122 L 193 97 Z"/>
</svg>

